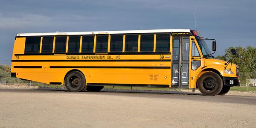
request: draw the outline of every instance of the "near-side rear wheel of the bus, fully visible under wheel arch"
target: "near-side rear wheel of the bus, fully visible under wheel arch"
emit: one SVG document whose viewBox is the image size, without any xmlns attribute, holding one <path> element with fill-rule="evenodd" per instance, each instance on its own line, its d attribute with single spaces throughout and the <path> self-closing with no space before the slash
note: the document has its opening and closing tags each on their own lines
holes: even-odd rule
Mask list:
<svg viewBox="0 0 256 128">
<path fill-rule="evenodd" d="M 81 92 L 86 87 L 84 74 L 79 71 L 70 72 L 67 74 L 64 84 L 70 92 Z"/>
</svg>

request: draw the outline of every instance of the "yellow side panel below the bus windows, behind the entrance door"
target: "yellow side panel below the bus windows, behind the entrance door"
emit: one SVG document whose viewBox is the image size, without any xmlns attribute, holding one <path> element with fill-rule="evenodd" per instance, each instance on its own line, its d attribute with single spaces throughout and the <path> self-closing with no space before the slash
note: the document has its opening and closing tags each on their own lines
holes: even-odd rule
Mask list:
<svg viewBox="0 0 256 128">
<path fill-rule="evenodd" d="M 80 59 L 82 55 L 79 55 Z M 107 58 L 107 55 L 105 55 Z M 112 55 L 114 56 L 114 55 Z M 77 58 L 79 58 L 77 57 Z M 125 55 L 121 58 L 154 59 L 159 55 Z M 107 84 L 166 84 L 170 85 L 171 69 L 158 67 L 171 67 L 171 61 L 87 61 L 66 60 L 67 55 L 20 55 L 19 60 L 56 60 L 56 62 L 12 62 L 12 66 L 41 66 L 41 68 L 15 68 L 16 77 L 39 81 L 43 83 L 58 82 L 64 84 L 64 77 L 70 70 L 80 70 L 84 73 L 86 83 Z M 113 57 L 112 57 L 113 58 Z M 59 68 L 54 68 L 54 66 Z M 71 67 L 70 67 L 71 66 Z M 85 68 L 79 68 L 79 67 Z M 66 68 L 70 67 L 70 68 Z M 93 68 L 90 68 L 93 67 Z M 100 68 L 95 68 L 100 67 Z M 103 68 L 102 68 L 103 67 Z M 106 68 L 105 68 L 106 67 Z M 113 68 L 114 67 L 114 68 Z M 130 68 L 125 68 L 130 67 Z M 141 68 L 138 68 L 141 67 Z M 152 67 L 152 68 L 144 68 Z M 155 69 L 154 69 L 155 68 Z"/>
</svg>

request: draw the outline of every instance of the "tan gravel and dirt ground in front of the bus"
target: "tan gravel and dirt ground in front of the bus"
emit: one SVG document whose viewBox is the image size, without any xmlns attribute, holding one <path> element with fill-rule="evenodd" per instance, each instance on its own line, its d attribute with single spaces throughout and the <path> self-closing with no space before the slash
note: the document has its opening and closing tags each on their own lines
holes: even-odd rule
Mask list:
<svg viewBox="0 0 256 128">
<path fill-rule="evenodd" d="M 1 89 L 0 128 L 256 127 L 256 96 Z"/>
</svg>

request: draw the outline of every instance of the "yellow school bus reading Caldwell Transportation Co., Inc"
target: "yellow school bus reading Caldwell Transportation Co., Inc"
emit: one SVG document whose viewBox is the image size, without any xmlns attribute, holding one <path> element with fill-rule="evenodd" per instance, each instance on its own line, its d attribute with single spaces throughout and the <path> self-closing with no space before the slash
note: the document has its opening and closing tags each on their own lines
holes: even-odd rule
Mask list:
<svg viewBox="0 0 256 128">
<path fill-rule="evenodd" d="M 224 95 L 238 86 L 239 67 L 215 59 L 195 30 L 20 33 L 12 77 L 65 85 L 70 92 L 104 86 L 198 88 Z"/>
</svg>

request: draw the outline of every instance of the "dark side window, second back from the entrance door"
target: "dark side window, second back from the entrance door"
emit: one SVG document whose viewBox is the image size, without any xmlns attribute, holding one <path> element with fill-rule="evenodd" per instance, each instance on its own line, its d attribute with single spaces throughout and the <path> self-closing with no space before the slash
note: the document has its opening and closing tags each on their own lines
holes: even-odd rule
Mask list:
<svg viewBox="0 0 256 128">
<path fill-rule="evenodd" d="M 140 36 L 140 52 L 153 52 L 154 34 L 142 34 Z"/>
</svg>

